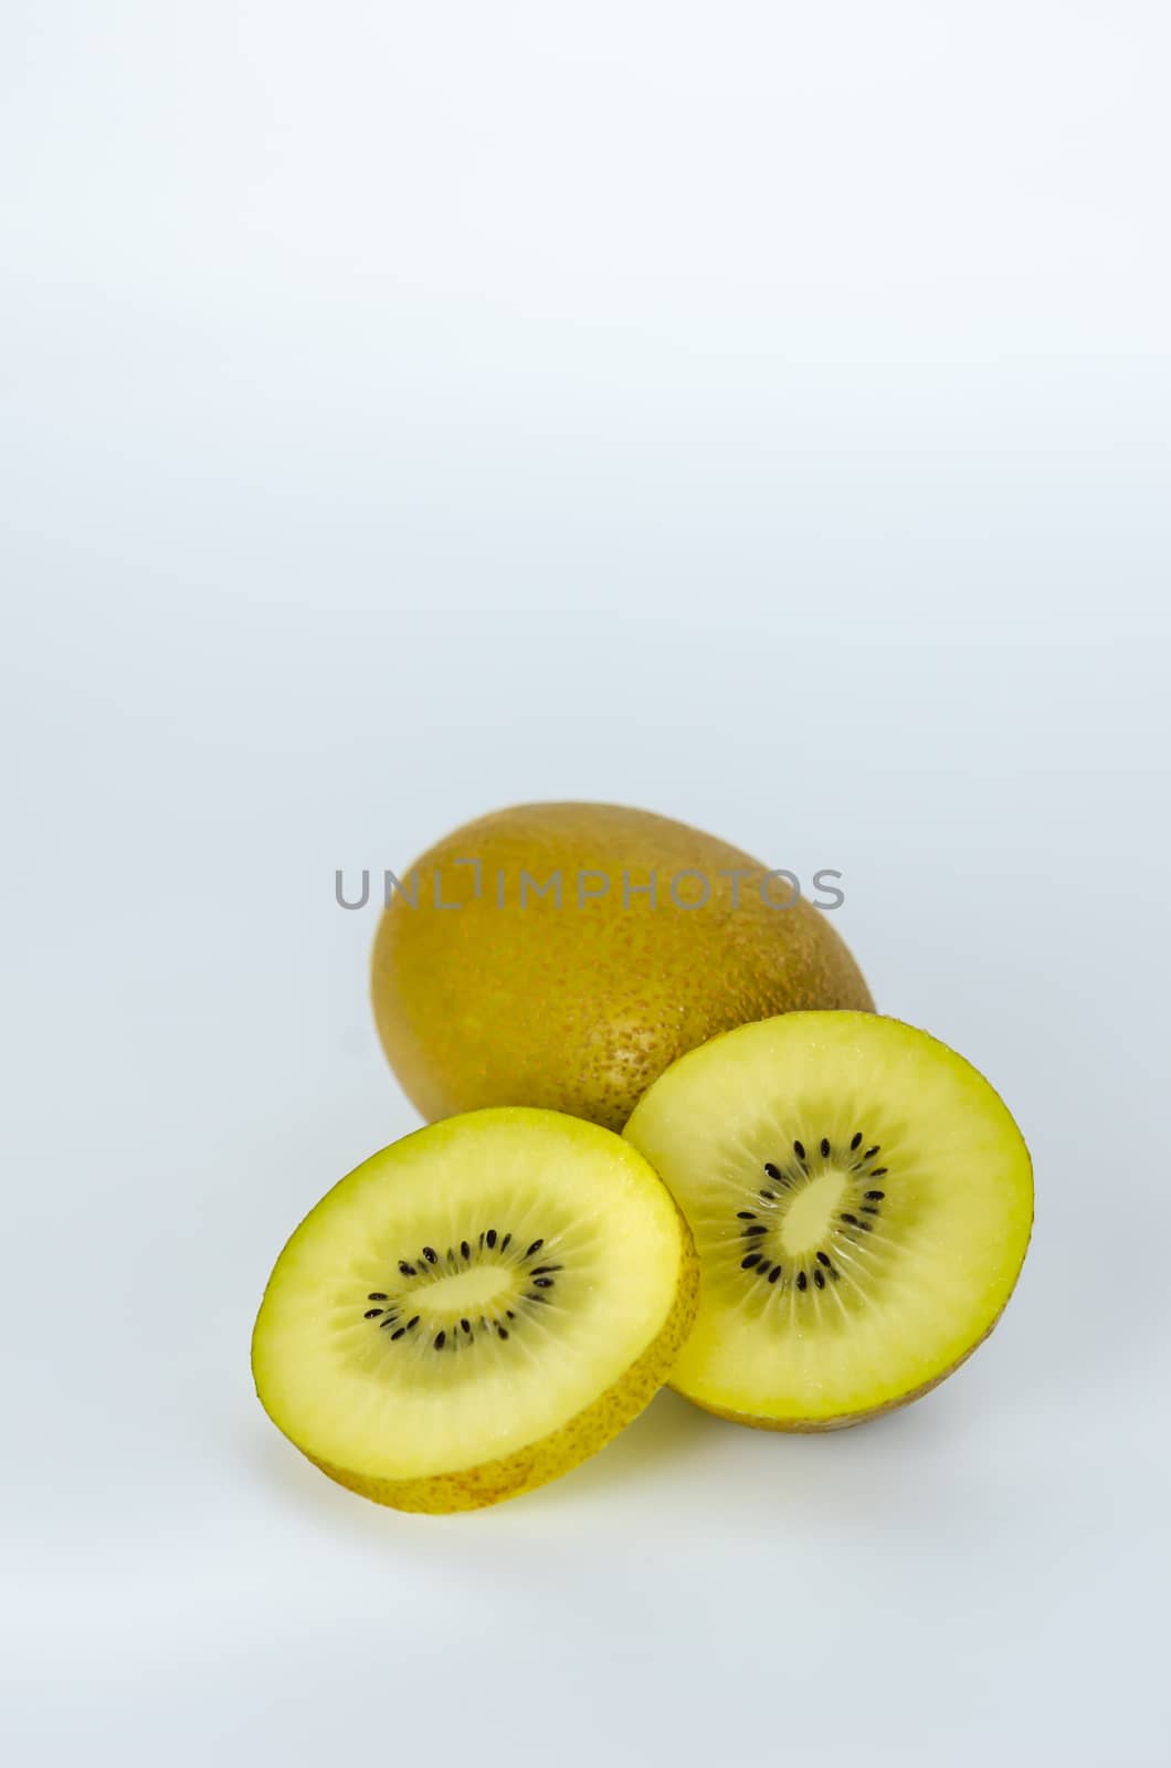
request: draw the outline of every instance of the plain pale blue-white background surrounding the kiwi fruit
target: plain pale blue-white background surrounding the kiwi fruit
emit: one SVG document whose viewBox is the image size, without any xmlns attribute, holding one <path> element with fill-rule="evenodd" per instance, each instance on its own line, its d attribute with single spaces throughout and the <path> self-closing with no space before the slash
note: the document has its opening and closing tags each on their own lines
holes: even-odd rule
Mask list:
<svg viewBox="0 0 1171 1768">
<path fill-rule="evenodd" d="M 9 1759 L 1166 1759 L 1166 7 L 0 30 Z M 248 1337 L 416 1124 L 334 868 L 532 797 L 840 866 L 1035 1245 L 900 1416 L 403 1517 Z"/>
</svg>

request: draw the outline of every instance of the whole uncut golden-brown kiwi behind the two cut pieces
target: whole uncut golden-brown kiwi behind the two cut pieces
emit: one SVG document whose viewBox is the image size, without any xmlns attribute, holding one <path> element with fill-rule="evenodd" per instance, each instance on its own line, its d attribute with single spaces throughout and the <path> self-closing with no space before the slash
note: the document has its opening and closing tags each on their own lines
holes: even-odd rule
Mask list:
<svg viewBox="0 0 1171 1768">
<path fill-rule="evenodd" d="M 458 859 L 481 863 L 479 896 Z M 522 870 L 538 884 L 561 872 L 563 907 L 529 891 L 522 909 Z M 658 907 L 646 895 L 624 905 L 624 870 L 631 889 L 656 872 Z M 704 907 L 672 903 L 670 879 L 688 870 L 709 882 Z M 720 877 L 732 870 L 746 875 Z M 416 861 L 417 907 L 394 895 L 375 941 L 375 1020 L 403 1091 L 430 1119 L 545 1105 L 621 1130 L 676 1057 L 722 1031 L 798 1008 L 872 1011 L 824 914 L 764 905 L 766 870 L 619 804 L 520 804 L 456 829 Z M 578 872 L 603 873 L 608 893 L 578 907 Z M 458 909 L 435 907 L 435 873 Z M 784 880 L 771 893 L 784 902 Z"/>
</svg>

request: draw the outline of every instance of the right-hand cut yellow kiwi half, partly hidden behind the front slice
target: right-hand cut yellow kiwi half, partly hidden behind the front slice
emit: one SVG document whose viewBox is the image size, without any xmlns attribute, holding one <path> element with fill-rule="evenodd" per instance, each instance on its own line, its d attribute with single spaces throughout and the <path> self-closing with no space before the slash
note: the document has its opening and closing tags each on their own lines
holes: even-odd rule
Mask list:
<svg viewBox="0 0 1171 1768">
<path fill-rule="evenodd" d="M 686 1215 L 700 1308 L 670 1384 L 769 1430 L 858 1423 L 987 1337 L 1033 1222 L 1028 1149 L 946 1045 L 787 1013 L 683 1055 L 626 1139 Z"/>
</svg>

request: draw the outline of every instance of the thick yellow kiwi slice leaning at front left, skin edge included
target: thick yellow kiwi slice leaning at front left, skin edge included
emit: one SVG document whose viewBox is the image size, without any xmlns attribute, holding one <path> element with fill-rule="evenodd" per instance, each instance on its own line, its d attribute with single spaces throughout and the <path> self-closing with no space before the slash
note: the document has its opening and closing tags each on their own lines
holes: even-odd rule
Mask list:
<svg viewBox="0 0 1171 1768">
<path fill-rule="evenodd" d="M 256 1393 L 350 1490 L 472 1510 L 642 1411 L 697 1291 L 688 1227 L 631 1144 L 559 1112 L 469 1112 L 310 1211 L 260 1305 Z"/>
</svg>

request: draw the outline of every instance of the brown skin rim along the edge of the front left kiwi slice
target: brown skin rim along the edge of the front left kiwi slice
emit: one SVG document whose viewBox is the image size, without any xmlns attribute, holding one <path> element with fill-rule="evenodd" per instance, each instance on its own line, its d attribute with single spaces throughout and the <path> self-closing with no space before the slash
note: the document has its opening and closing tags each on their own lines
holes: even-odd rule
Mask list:
<svg viewBox="0 0 1171 1768">
<path fill-rule="evenodd" d="M 479 1467 L 463 1467 L 458 1473 L 440 1473 L 421 1480 L 375 1480 L 317 1460 L 315 1455 L 308 1459 L 338 1485 L 370 1497 L 375 1505 L 389 1505 L 393 1510 L 419 1510 L 430 1515 L 483 1510 L 486 1505 L 518 1497 L 522 1492 L 531 1492 L 534 1487 L 570 1473 L 649 1406 L 695 1322 L 699 1259 L 683 1215 L 679 1215 L 679 1232 L 683 1236 L 679 1287 L 665 1324 L 614 1386 L 607 1388 L 593 1406 L 561 1425 L 552 1436 L 518 1450 L 515 1455 L 506 1455 L 502 1460 L 488 1460 Z"/>
</svg>

